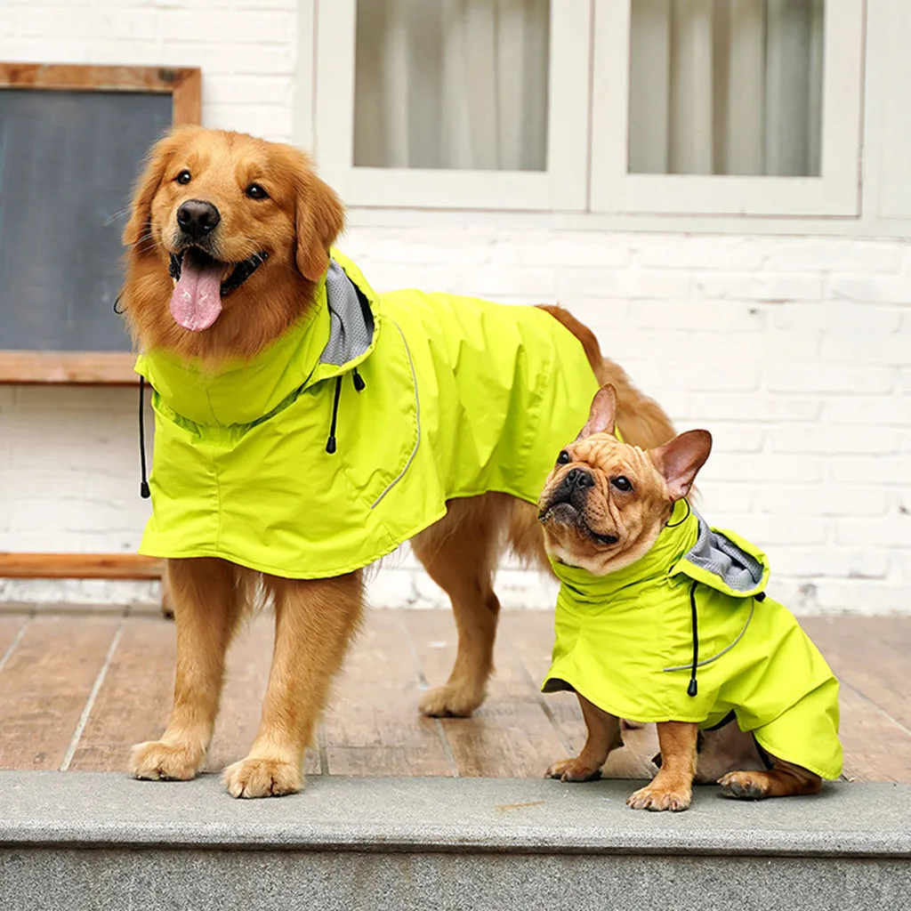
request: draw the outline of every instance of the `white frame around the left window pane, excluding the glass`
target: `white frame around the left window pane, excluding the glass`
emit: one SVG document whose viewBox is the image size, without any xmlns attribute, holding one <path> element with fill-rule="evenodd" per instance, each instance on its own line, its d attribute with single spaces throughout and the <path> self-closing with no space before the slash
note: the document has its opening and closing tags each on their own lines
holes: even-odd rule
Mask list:
<svg viewBox="0 0 911 911">
<path fill-rule="evenodd" d="M 544 171 L 355 166 L 355 13 L 356 0 L 322 0 L 316 4 L 313 150 L 322 177 L 348 205 L 543 211 L 589 208 L 592 0 L 550 0 L 548 157 Z"/>
</svg>

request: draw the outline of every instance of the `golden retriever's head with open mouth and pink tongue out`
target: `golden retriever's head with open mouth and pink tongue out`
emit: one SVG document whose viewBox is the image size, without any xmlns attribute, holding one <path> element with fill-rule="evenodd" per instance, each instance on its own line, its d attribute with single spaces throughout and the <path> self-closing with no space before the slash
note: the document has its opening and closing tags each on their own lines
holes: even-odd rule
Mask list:
<svg viewBox="0 0 911 911">
<path fill-rule="evenodd" d="M 299 149 L 173 129 L 149 152 L 123 232 L 134 333 L 182 353 L 255 353 L 309 303 L 343 221 Z"/>
</svg>

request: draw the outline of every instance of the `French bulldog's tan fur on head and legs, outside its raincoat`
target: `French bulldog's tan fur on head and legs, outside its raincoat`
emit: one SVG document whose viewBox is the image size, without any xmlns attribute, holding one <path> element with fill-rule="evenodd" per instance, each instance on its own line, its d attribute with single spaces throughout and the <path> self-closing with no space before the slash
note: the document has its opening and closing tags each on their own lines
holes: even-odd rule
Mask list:
<svg viewBox="0 0 911 911">
<path fill-rule="evenodd" d="M 548 552 L 599 576 L 630 566 L 650 550 L 674 503 L 690 493 L 711 451 L 711 435 L 705 430 L 688 431 L 643 451 L 612 435 L 617 420 L 618 396 L 605 385 L 592 401 L 588 423 L 565 447 L 568 460 L 548 476 L 538 504 Z M 589 482 L 584 495 L 565 508 L 564 482 L 571 472 L 584 472 Z M 630 482 L 630 490 L 618 488 L 619 477 Z M 593 537 L 598 534 L 616 540 L 599 542 Z M 564 782 L 597 778 L 609 752 L 620 743 L 619 720 L 580 693 L 577 696 L 588 741 L 578 757 L 559 760 L 547 772 Z M 746 735 L 733 730 L 736 725 L 726 727 L 730 732 L 714 732 L 707 738 L 713 752 L 698 755 L 698 724 L 659 722 L 660 770 L 649 784 L 630 794 L 627 804 L 636 810 L 685 810 L 691 804 L 693 781 L 704 781 L 708 770 L 721 774 L 723 793 L 750 800 L 816 793 L 822 787 L 815 773 L 775 757 L 770 771 L 737 770 L 740 763 L 752 763 L 755 753 L 746 749 Z M 737 763 L 733 768 L 732 762 Z M 719 763 L 727 763 L 723 771 Z"/>
</svg>

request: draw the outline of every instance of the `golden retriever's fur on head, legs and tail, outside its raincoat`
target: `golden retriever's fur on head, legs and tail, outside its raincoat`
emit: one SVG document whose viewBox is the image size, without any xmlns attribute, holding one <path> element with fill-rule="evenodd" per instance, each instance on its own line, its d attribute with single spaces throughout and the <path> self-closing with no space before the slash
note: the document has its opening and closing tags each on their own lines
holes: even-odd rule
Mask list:
<svg viewBox="0 0 911 911">
<path fill-rule="evenodd" d="M 188 184 L 176 182 L 188 169 Z M 268 200 L 251 200 L 251 182 Z M 169 252 L 177 241 L 175 213 L 186 200 L 210 201 L 220 212 L 212 231 L 216 258 L 230 264 L 255 252 L 269 258 L 223 300 L 217 321 L 200 333 L 181 328 L 169 312 Z M 305 315 L 314 282 L 343 227 L 333 190 L 298 149 L 238 133 L 185 127 L 150 152 L 138 179 L 124 231 L 127 280 L 122 303 L 143 348 L 166 348 L 212 367 L 248 359 Z M 567 311 L 548 307 L 583 344 L 599 380 L 619 391 L 619 426 L 627 439 L 658 445 L 673 435 L 660 407 L 641 395 L 598 342 Z M 340 505 L 343 507 L 343 505 Z M 415 538 L 415 553 L 453 602 L 459 644 L 442 687 L 421 703 L 432 715 L 470 715 L 484 700 L 493 669 L 499 602 L 496 563 L 507 547 L 548 568 L 535 507 L 501 494 L 448 504 L 446 516 Z M 302 786 L 301 764 L 362 611 L 362 574 L 322 581 L 259 577 L 216 559 L 169 560 L 169 602 L 178 628 L 174 709 L 158 742 L 139 744 L 130 767 L 140 778 L 191 778 L 209 745 L 218 711 L 224 656 L 238 619 L 261 587 L 274 603 L 276 637 L 260 731 L 246 759 L 225 773 L 235 796 L 290 793 Z"/>
</svg>

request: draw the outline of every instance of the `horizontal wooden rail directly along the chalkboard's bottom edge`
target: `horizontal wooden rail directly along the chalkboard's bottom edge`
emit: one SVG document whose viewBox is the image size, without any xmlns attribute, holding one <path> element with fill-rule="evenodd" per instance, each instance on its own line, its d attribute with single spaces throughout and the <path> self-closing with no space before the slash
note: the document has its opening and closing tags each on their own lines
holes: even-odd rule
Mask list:
<svg viewBox="0 0 911 911">
<path fill-rule="evenodd" d="M 131 386 L 134 363 L 128 352 L 0 351 L 0 384 Z"/>
</svg>

